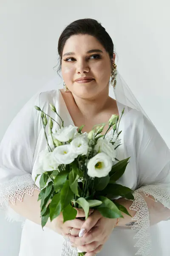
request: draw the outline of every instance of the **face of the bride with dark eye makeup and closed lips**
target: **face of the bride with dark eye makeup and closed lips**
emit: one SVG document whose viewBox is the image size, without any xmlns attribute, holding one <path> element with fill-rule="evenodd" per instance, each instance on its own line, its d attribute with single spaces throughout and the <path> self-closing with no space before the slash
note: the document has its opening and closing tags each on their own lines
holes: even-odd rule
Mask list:
<svg viewBox="0 0 170 256">
<path fill-rule="evenodd" d="M 62 53 L 62 77 L 74 95 L 95 98 L 108 90 L 110 76 L 110 57 L 94 36 L 73 35 L 66 41 Z M 88 80 L 76 81 L 85 77 Z"/>
</svg>

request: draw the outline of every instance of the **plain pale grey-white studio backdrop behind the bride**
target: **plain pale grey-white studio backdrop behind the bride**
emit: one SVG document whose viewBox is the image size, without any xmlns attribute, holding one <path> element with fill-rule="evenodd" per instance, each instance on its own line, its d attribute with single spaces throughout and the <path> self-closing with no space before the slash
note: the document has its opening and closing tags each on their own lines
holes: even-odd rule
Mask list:
<svg viewBox="0 0 170 256">
<path fill-rule="evenodd" d="M 170 146 L 169 11 L 169 0 L 0 0 L 0 140 L 28 99 L 57 76 L 61 31 L 91 17 L 111 35 L 119 72 Z M 20 223 L 0 215 L 0 256 L 18 256 L 20 232 Z"/>
</svg>

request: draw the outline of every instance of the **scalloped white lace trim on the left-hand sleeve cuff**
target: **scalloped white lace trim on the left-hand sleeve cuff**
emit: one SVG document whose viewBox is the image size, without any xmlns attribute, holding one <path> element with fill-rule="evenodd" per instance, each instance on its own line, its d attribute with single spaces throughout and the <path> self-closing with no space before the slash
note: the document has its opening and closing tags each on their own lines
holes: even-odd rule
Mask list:
<svg viewBox="0 0 170 256">
<path fill-rule="evenodd" d="M 8 220 L 17 221 L 20 216 L 16 212 L 14 213 L 14 211 L 12 211 L 8 206 L 8 201 L 10 201 L 11 204 L 15 204 L 16 199 L 23 201 L 24 195 L 27 194 L 32 196 L 34 190 L 40 191 L 40 189 L 35 185 L 31 174 L 16 176 L 12 180 L 0 185 L 0 210 L 6 211 L 6 217 Z"/>
</svg>

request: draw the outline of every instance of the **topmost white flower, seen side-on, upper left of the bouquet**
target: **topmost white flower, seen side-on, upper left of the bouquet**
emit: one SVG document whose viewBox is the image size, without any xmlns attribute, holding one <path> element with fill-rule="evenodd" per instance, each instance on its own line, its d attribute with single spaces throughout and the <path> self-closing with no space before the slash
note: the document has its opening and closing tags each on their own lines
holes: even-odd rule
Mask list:
<svg viewBox="0 0 170 256">
<path fill-rule="evenodd" d="M 77 132 L 77 126 L 69 125 L 68 127 L 61 128 L 57 133 L 53 134 L 53 138 L 59 140 L 60 142 L 67 142 L 72 140 L 74 134 Z"/>
</svg>

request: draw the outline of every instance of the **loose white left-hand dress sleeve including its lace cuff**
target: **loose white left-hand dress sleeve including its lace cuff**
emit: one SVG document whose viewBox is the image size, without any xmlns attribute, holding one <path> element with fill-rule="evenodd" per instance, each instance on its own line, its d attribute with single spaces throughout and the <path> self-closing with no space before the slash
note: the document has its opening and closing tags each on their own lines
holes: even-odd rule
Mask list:
<svg viewBox="0 0 170 256">
<path fill-rule="evenodd" d="M 22 221 L 8 206 L 22 201 L 24 194 L 33 195 L 37 186 L 31 177 L 34 150 L 40 132 L 40 116 L 34 108 L 39 95 L 34 96 L 9 125 L 0 143 L 0 209 L 10 220 Z M 35 125 L 36 124 L 36 125 Z"/>
</svg>

